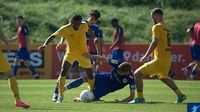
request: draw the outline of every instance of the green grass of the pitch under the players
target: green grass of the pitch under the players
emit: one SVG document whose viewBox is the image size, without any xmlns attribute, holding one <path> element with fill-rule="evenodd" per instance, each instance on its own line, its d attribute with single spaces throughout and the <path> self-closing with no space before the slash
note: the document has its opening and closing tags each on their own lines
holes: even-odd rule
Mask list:
<svg viewBox="0 0 200 112">
<path fill-rule="evenodd" d="M 71 81 L 71 80 L 70 80 Z M 67 83 L 70 82 L 69 80 Z M 174 104 L 176 96 L 159 80 L 144 81 L 145 104 L 109 103 L 113 99 L 122 99 L 129 95 L 128 86 L 118 92 L 109 94 L 102 99 L 107 102 L 73 103 L 74 97 L 87 84 L 66 91 L 64 103 L 51 102 L 55 80 L 18 80 L 21 98 L 29 102 L 29 109 L 15 108 L 14 98 L 6 80 L 0 80 L 0 112 L 186 112 L 188 102 L 200 102 L 200 81 L 176 81 L 188 99 L 183 104 Z"/>
</svg>

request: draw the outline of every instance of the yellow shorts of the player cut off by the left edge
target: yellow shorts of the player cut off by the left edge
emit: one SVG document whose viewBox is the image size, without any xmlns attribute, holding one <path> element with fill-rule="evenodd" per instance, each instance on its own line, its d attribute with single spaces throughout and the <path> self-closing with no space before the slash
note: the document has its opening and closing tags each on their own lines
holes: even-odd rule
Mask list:
<svg viewBox="0 0 200 112">
<path fill-rule="evenodd" d="M 11 70 L 10 64 L 4 57 L 3 52 L 0 51 L 0 72 L 7 72 Z"/>
</svg>

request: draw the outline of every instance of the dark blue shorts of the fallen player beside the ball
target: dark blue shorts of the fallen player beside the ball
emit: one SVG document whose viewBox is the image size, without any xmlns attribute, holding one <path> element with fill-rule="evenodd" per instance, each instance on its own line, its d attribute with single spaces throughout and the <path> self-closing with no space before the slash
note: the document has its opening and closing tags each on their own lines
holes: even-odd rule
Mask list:
<svg viewBox="0 0 200 112">
<path fill-rule="evenodd" d="M 96 74 L 95 85 L 94 85 L 94 90 L 93 90 L 95 100 L 99 100 L 99 98 L 110 93 L 110 88 L 108 87 L 109 81 L 110 80 L 108 79 L 108 76 Z"/>
</svg>

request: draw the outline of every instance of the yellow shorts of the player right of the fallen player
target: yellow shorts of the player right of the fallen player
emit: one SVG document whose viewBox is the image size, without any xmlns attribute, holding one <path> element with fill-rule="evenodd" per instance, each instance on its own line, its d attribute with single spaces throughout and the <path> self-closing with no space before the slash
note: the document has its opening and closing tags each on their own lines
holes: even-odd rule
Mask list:
<svg viewBox="0 0 200 112">
<path fill-rule="evenodd" d="M 157 75 L 159 79 L 162 79 L 168 77 L 170 66 L 171 60 L 159 61 L 157 59 L 154 59 L 150 62 L 143 64 L 141 67 L 138 68 L 138 70 L 144 75 L 149 75 L 150 77 Z"/>
</svg>

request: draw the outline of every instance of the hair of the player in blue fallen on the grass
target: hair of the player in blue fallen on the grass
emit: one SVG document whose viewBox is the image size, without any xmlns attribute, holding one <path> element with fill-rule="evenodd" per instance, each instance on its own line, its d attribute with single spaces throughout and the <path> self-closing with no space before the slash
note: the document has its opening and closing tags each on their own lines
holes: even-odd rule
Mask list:
<svg viewBox="0 0 200 112">
<path fill-rule="evenodd" d="M 129 62 L 123 62 L 118 66 L 118 70 L 121 72 L 129 72 L 132 70 L 132 66 Z"/>
</svg>

